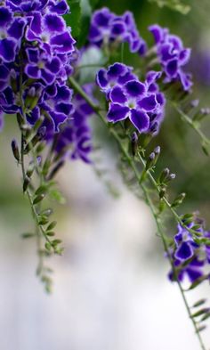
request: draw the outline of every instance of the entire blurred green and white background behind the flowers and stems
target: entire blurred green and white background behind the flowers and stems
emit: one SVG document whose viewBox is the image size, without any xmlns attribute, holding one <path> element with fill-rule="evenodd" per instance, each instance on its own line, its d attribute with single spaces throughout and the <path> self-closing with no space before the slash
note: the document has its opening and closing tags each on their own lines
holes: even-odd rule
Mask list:
<svg viewBox="0 0 210 350">
<path fill-rule="evenodd" d="M 181 36 L 184 45 L 192 47 L 192 99 L 210 106 L 208 0 L 191 0 L 187 16 L 146 0 L 100 3 L 119 14 L 132 11 L 150 45 L 147 27 L 152 23 Z M 132 60 L 136 64 L 137 56 Z M 207 118 L 203 127 L 210 134 Z M 54 288 L 52 296 L 44 294 L 35 276 L 36 242 L 20 237 L 33 229 L 33 223 L 21 193 L 20 168 L 12 158 L 10 142 L 15 136 L 16 121 L 6 118 L 0 134 L 1 349 L 198 350 L 181 295 L 167 280 L 169 266 L 149 208 L 125 188 L 117 171 L 115 145 L 105 145 L 94 156 L 107 170 L 102 178 L 97 169 L 80 161 L 69 162 L 58 176 L 67 202 L 56 206 L 54 218 L 65 251 L 49 261 L 55 271 Z M 210 166 L 197 134 L 168 109 L 154 144 L 163 149 L 159 167 L 177 174 L 172 195 L 187 192 L 182 211 L 199 209 L 209 227 Z M 114 198 L 110 190 L 119 195 Z M 169 226 L 169 233 L 174 229 L 174 224 Z M 204 286 L 189 298 L 194 303 L 207 295 L 209 287 Z M 210 344 L 209 330 L 204 338 Z"/>
</svg>

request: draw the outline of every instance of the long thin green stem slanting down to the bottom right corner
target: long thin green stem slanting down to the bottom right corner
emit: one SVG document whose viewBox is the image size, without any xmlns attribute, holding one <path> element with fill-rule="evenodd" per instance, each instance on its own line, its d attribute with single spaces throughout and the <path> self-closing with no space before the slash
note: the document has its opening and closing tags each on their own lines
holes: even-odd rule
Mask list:
<svg viewBox="0 0 210 350">
<path fill-rule="evenodd" d="M 87 103 L 89 103 L 89 105 L 93 108 L 94 112 L 101 118 L 103 123 L 107 126 L 107 122 L 106 122 L 106 120 L 104 120 L 103 116 L 101 115 L 101 112 L 100 112 L 98 106 L 93 103 L 93 101 L 89 98 L 89 96 L 87 94 L 85 94 L 85 91 L 80 87 L 80 85 L 77 84 L 77 82 L 75 81 L 75 79 L 73 77 L 69 77 L 69 83 L 72 85 L 72 87 L 75 89 L 75 91 L 77 91 L 77 93 L 80 94 L 85 99 L 85 101 Z M 149 191 L 147 191 L 146 186 L 143 183 L 141 183 L 141 174 L 139 174 L 139 172 L 138 172 L 138 170 L 137 170 L 137 168 L 135 166 L 134 159 L 131 158 L 131 156 L 125 150 L 125 146 L 121 142 L 121 139 L 120 139 L 119 135 L 117 134 L 117 132 L 114 130 L 114 128 L 109 128 L 109 133 L 112 134 L 112 136 L 116 140 L 120 151 L 122 151 L 123 155 L 125 156 L 125 159 L 126 159 L 126 162 L 127 162 L 128 166 L 130 166 L 131 169 L 133 170 L 133 173 L 135 175 L 136 181 L 139 184 L 139 186 L 141 188 L 141 191 L 143 191 L 143 193 L 144 193 L 146 202 L 149 205 L 149 208 L 151 210 L 152 216 L 155 219 L 155 222 L 156 222 L 156 225 L 157 225 L 157 229 L 158 229 L 158 234 L 159 234 L 159 236 L 160 236 L 160 238 L 162 240 L 162 243 L 163 243 L 164 249 L 166 251 L 166 254 L 169 257 L 170 265 L 171 265 L 171 267 L 172 267 L 172 269 L 174 271 L 174 263 L 173 263 L 172 258 L 170 257 L 170 252 L 169 252 L 169 249 L 168 249 L 168 246 L 167 246 L 166 236 L 165 236 L 165 234 L 164 234 L 164 232 L 162 230 L 161 224 L 159 222 L 159 217 L 156 214 L 155 207 L 153 205 L 152 199 L 149 196 Z M 141 161 L 141 165 L 145 168 L 145 162 L 141 158 L 140 154 L 139 154 L 139 159 Z M 153 185 L 154 189 L 156 191 L 158 191 L 158 193 L 159 193 L 158 183 L 156 182 L 155 178 L 153 177 L 153 175 L 150 172 L 148 172 L 148 175 L 149 175 L 149 182 Z M 181 224 L 182 223 L 182 219 L 176 213 L 174 208 L 171 207 L 171 204 L 167 201 L 167 199 L 165 197 L 164 197 L 164 201 L 166 203 L 166 206 L 171 210 L 172 214 L 174 215 L 175 220 L 179 224 Z M 201 338 L 197 322 L 195 322 L 195 320 L 192 317 L 192 314 L 190 312 L 190 305 L 188 304 L 187 298 L 185 297 L 184 289 L 182 289 L 182 284 L 180 283 L 179 279 L 177 278 L 177 273 L 175 271 L 174 271 L 174 277 L 175 277 L 175 279 L 177 281 L 177 284 L 178 284 L 178 287 L 179 287 L 179 289 L 181 291 L 182 299 L 183 299 L 184 305 L 185 305 L 185 307 L 187 309 L 187 313 L 189 314 L 190 320 L 191 320 L 191 322 L 193 324 L 193 327 L 194 327 L 194 329 L 196 331 L 196 334 L 197 334 L 197 337 L 198 337 L 198 341 L 199 341 L 199 345 L 200 345 L 202 350 L 206 350 L 206 346 L 204 345 L 203 339 Z"/>
</svg>

